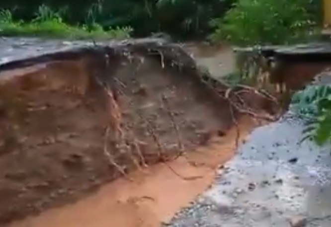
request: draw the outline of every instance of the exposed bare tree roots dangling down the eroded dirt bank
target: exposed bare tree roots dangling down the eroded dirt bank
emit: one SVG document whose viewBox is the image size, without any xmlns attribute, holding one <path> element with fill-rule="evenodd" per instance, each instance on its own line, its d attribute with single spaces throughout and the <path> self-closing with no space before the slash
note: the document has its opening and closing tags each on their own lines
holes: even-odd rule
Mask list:
<svg viewBox="0 0 331 227">
<path fill-rule="evenodd" d="M 225 84 L 224 82 L 216 81 L 212 79 L 212 76 L 208 74 L 208 72 L 201 72 L 199 68 L 195 65 L 194 60 L 186 54 L 179 46 L 174 46 L 170 49 L 165 48 L 165 44 L 158 46 L 158 43 L 154 44 L 155 46 L 150 48 L 147 46 L 137 45 L 135 48 L 133 48 L 134 51 L 136 51 L 136 54 L 139 55 L 140 62 L 143 58 L 146 57 L 157 57 L 159 56 L 159 61 L 162 68 L 172 68 L 176 70 L 182 70 L 189 72 L 192 76 L 196 76 L 205 86 L 208 87 L 209 90 L 211 90 L 213 93 L 215 93 L 219 98 L 226 100 L 229 103 L 229 111 L 231 112 L 233 125 L 237 128 L 237 136 L 236 136 L 236 148 L 239 146 L 239 138 L 240 138 L 240 130 L 239 125 L 237 122 L 238 115 L 248 115 L 252 119 L 257 120 L 264 120 L 264 121 L 275 121 L 278 116 L 272 116 L 270 114 L 266 114 L 265 112 L 261 114 L 261 109 L 256 110 L 253 109 L 253 107 L 250 107 L 249 104 L 246 103 L 247 96 L 246 94 L 250 94 L 254 96 L 254 100 L 262 100 L 263 102 L 273 102 L 274 105 L 278 106 L 277 99 L 273 97 L 271 94 L 267 93 L 264 90 L 258 90 L 256 88 L 247 86 L 247 85 L 237 85 L 235 87 L 230 87 L 229 85 Z M 169 44 L 170 45 L 170 44 Z M 170 51 L 169 51 L 170 50 Z M 132 53 L 134 53 L 131 52 Z M 150 55 L 150 56 L 149 56 Z M 143 56 L 143 57 L 142 57 Z M 178 57 L 179 56 L 179 57 Z M 180 57 L 181 56 L 181 57 Z M 207 74 L 206 74 L 207 73 Z M 116 81 L 114 81 L 116 82 Z M 113 88 L 118 89 L 120 88 Z M 119 91 L 123 94 L 123 92 Z M 110 91 L 108 91 L 110 93 Z M 112 100 L 111 103 L 115 103 L 115 100 L 112 95 L 109 96 L 109 98 Z M 172 158 L 176 158 L 182 154 L 182 151 L 184 151 L 183 143 L 181 141 L 180 132 L 177 126 L 177 123 L 174 119 L 174 116 L 171 112 L 171 107 L 167 101 L 167 97 L 165 94 L 161 94 L 161 102 L 163 108 L 166 110 L 166 112 L 169 115 L 169 119 L 171 121 L 172 127 L 177 135 L 177 147 L 178 147 L 178 153 L 176 155 L 166 153 L 163 149 L 162 143 L 159 141 L 157 134 L 155 133 L 155 129 L 153 128 L 152 124 L 149 123 L 148 119 L 144 119 L 143 114 L 141 114 L 139 111 L 136 112 L 136 114 L 141 118 L 141 120 L 144 120 L 147 124 L 147 131 L 151 138 L 153 138 L 154 143 L 156 144 L 159 160 L 164 162 L 164 164 L 178 177 L 180 177 L 183 180 L 195 180 L 202 178 L 203 176 L 182 176 L 179 173 L 177 173 L 168 163 L 167 161 Z M 113 105 L 112 105 L 113 106 Z M 114 108 L 110 112 L 119 111 L 119 108 Z M 119 135 L 122 135 L 122 137 L 125 137 L 125 133 L 127 133 L 127 130 L 123 130 L 120 128 L 120 114 L 112 114 L 111 115 L 111 122 L 113 122 L 112 127 L 117 129 L 119 132 Z M 124 133 L 125 131 L 125 133 Z M 121 138 L 123 139 L 123 138 Z M 116 140 L 119 140 L 117 138 Z M 140 162 L 144 163 L 146 165 L 146 161 L 144 160 L 144 154 L 140 151 L 139 143 L 137 141 L 134 141 L 131 139 L 131 143 L 134 143 L 133 147 L 136 148 L 137 153 L 139 154 Z M 132 158 L 133 162 L 136 165 L 139 165 L 139 161 L 134 160 L 135 155 L 130 155 L 130 158 Z M 118 168 L 118 170 L 125 174 L 123 169 L 119 167 L 118 164 L 112 163 Z"/>
</svg>

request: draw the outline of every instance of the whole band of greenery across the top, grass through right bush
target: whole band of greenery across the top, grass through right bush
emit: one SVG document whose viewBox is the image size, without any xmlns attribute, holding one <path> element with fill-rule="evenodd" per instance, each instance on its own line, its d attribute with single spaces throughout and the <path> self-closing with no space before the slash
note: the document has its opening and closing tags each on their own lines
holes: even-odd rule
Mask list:
<svg viewBox="0 0 331 227">
<path fill-rule="evenodd" d="M 320 1 L 319 1 L 320 2 Z M 5 35 L 88 38 L 166 32 L 235 45 L 311 37 L 321 13 L 313 0 L 2 0 Z M 286 7 L 285 7 L 286 6 Z"/>
</svg>

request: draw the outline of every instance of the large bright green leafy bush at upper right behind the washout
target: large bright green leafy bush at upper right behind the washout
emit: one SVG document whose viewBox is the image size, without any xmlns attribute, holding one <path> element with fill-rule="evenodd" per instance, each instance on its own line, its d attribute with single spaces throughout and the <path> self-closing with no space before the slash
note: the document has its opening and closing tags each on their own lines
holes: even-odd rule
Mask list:
<svg viewBox="0 0 331 227">
<path fill-rule="evenodd" d="M 224 17 L 211 21 L 214 42 L 239 46 L 285 44 L 310 38 L 319 7 L 312 0 L 238 0 Z"/>
</svg>

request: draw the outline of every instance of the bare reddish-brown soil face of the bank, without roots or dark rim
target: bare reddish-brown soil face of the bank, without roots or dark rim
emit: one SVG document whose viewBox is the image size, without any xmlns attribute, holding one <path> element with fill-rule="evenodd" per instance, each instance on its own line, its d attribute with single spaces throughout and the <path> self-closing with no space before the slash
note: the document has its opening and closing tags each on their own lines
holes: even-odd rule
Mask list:
<svg viewBox="0 0 331 227">
<path fill-rule="evenodd" d="M 81 63 L 30 71 L 0 76 L 0 223 L 70 203 L 120 175 L 104 152 L 111 124 L 107 94 Z M 208 96 L 201 84 L 154 62 L 132 72 L 130 66 L 116 75 L 123 92 L 120 126 L 132 132 L 127 140 L 143 141 L 140 150 L 149 164 L 160 161 L 159 146 L 164 152 L 191 150 L 232 125 L 230 112 L 222 110 L 226 104 Z M 121 151 L 109 152 L 125 171 L 135 168 L 129 149 Z"/>
</svg>

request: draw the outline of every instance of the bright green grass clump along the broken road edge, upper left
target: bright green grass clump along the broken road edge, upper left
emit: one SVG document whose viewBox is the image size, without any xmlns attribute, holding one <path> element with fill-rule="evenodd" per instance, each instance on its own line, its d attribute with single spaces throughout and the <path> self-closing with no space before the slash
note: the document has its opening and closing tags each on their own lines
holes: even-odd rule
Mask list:
<svg viewBox="0 0 331 227">
<path fill-rule="evenodd" d="M 105 30 L 97 23 L 73 26 L 65 23 L 62 13 L 46 5 L 39 6 L 35 18 L 29 22 L 16 21 L 10 10 L 0 10 L 0 35 L 2 36 L 37 36 L 66 39 L 126 39 L 132 29 L 109 28 Z"/>
</svg>

